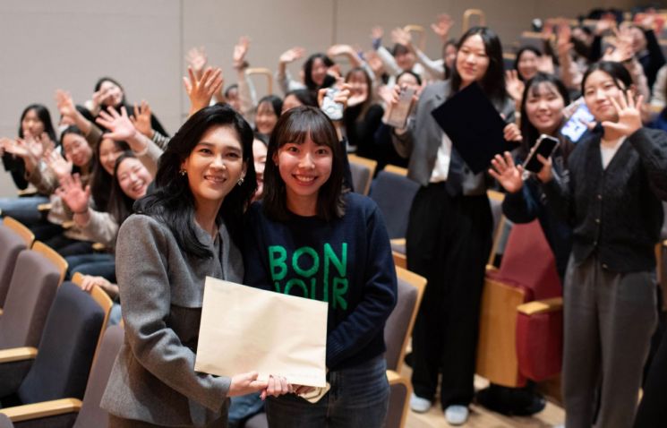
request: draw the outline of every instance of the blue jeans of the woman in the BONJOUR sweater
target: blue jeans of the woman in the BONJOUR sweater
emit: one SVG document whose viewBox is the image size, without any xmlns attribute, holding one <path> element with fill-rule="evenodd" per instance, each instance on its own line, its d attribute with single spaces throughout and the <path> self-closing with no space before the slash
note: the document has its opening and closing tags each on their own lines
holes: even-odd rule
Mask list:
<svg viewBox="0 0 667 428">
<path fill-rule="evenodd" d="M 295 394 L 267 398 L 271 428 L 380 428 L 389 407 L 389 381 L 384 355 L 329 372 L 331 389 L 317 403 Z"/>
</svg>

